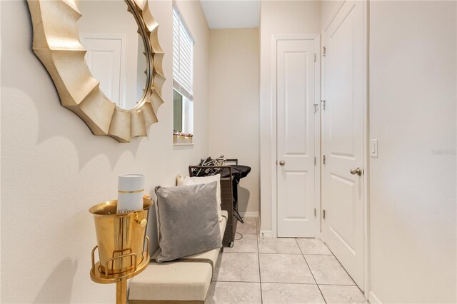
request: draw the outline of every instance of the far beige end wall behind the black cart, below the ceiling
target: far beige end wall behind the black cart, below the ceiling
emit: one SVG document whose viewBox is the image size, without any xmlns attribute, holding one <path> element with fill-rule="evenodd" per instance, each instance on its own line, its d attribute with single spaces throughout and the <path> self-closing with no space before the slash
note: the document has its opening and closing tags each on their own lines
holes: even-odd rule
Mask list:
<svg viewBox="0 0 457 304">
<path fill-rule="evenodd" d="M 258 214 L 258 29 L 212 29 L 209 48 L 209 153 L 238 158 L 251 173 L 238 188 L 238 211 Z"/>
</svg>

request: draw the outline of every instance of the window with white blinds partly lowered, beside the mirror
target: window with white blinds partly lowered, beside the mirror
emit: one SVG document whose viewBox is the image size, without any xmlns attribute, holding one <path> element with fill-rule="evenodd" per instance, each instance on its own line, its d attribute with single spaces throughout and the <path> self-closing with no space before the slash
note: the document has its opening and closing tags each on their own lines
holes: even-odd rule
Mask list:
<svg viewBox="0 0 457 304">
<path fill-rule="evenodd" d="M 194 134 L 194 39 L 173 9 L 174 143 L 192 143 Z"/>
</svg>

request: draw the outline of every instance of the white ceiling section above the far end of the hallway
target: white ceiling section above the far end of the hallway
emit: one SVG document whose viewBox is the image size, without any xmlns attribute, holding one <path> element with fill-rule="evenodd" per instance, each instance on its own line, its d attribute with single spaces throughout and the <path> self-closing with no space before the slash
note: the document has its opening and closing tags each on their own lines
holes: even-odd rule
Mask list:
<svg viewBox="0 0 457 304">
<path fill-rule="evenodd" d="M 210 29 L 258 27 L 260 0 L 200 0 Z"/>
</svg>

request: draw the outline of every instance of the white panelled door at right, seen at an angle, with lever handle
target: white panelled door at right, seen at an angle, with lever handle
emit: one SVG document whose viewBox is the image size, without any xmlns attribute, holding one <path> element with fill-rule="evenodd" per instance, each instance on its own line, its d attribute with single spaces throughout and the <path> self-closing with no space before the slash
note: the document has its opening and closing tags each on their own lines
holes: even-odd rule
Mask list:
<svg viewBox="0 0 457 304">
<path fill-rule="evenodd" d="M 364 9 L 346 1 L 323 45 L 322 238 L 363 289 Z M 361 176 L 350 173 L 361 169 Z M 356 173 L 353 171 L 353 173 Z"/>
</svg>

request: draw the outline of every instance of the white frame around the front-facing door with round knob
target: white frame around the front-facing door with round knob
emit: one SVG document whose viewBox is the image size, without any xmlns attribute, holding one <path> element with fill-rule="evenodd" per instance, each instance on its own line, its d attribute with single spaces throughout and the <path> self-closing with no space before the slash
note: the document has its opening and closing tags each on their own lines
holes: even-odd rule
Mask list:
<svg viewBox="0 0 457 304">
<path fill-rule="evenodd" d="M 271 36 L 271 233 L 274 238 L 278 237 L 278 141 L 277 141 L 277 96 L 276 96 L 276 57 L 278 41 L 281 40 L 314 40 L 314 49 L 316 53 L 316 100 L 318 103 L 318 111 L 321 111 L 321 34 L 278 34 Z M 314 115 L 314 155 L 316 156 L 316 166 L 314 170 L 314 191 L 316 213 L 319 215 L 321 210 L 321 162 L 318 161 L 318 156 L 321 155 L 321 115 Z M 321 217 L 316 216 L 316 238 L 321 238 Z"/>
</svg>

